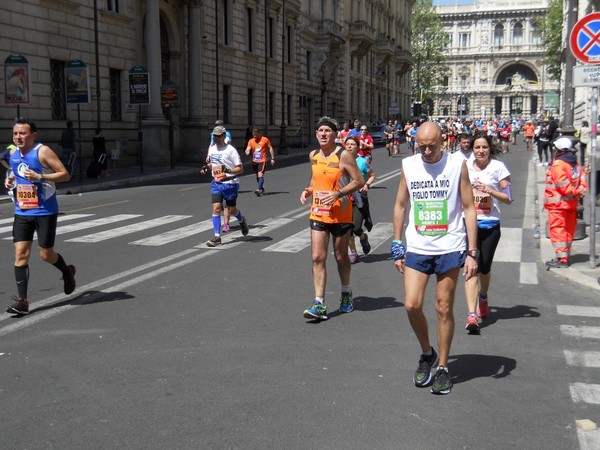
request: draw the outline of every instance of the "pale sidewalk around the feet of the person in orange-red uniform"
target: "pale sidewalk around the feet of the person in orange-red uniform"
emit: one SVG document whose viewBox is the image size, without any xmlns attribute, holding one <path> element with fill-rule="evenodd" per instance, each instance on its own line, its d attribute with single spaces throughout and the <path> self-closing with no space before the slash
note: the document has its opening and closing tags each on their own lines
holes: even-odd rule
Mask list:
<svg viewBox="0 0 600 450">
<path fill-rule="evenodd" d="M 535 164 L 533 161 L 530 164 Z M 535 168 L 535 181 L 537 187 L 537 205 L 539 209 L 539 224 L 540 224 L 540 260 L 542 266 L 544 262 L 554 258 L 554 249 L 550 239 L 546 237 L 546 222 L 548 215 L 543 210 L 544 208 L 544 185 L 546 179 L 546 167 Z M 589 198 L 584 199 L 584 213 L 583 222 L 585 222 L 585 238 L 573 241 L 571 249 L 570 266 L 567 269 L 550 269 L 553 274 L 569 279 L 572 283 L 577 285 L 586 286 L 590 289 L 600 291 L 600 284 L 598 278 L 600 277 L 600 268 L 598 267 L 600 255 L 600 233 L 598 232 L 598 223 L 600 223 L 600 211 L 596 211 L 596 227 L 590 227 L 590 206 Z M 590 263 L 590 230 L 595 228 L 596 242 L 595 242 L 595 264 Z"/>
</svg>

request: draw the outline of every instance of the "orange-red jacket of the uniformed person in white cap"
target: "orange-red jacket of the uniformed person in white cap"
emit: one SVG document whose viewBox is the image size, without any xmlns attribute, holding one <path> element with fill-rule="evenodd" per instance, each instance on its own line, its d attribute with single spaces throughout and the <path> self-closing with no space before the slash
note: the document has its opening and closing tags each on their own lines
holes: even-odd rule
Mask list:
<svg viewBox="0 0 600 450">
<path fill-rule="evenodd" d="M 546 172 L 544 208 L 576 210 L 580 195 L 587 189 L 585 172 L 579 163 L 573 168 L 568 162 L 555 159 Z"/>
</svg>

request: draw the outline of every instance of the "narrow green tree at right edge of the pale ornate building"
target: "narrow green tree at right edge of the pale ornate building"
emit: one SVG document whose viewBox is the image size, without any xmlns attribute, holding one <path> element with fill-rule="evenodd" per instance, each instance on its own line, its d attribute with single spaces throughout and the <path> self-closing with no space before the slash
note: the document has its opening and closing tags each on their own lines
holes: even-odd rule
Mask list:
<svg viewBox="0 0 600 450">
<path fill-rule="evenodd" d="M 561 56 L 563 52 L 563 0 L 549 0 L 546 17 L 536 21 L 542 32 L 544 64 L 552 80 L 560 80 Z"/>
</svg>

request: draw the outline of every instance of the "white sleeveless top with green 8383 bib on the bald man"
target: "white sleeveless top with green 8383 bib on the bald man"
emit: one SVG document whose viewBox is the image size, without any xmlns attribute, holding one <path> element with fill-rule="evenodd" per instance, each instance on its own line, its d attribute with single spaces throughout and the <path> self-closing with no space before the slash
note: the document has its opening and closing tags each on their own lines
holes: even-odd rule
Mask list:
<svg viewBox="0 0 600 450">
<path fill-rule="evenodd" d="M 421 255 L 443 255 L 466 250 L 462 220 L 460 173 L 463 158 L 446 152 L 437 163 L 428 164 L 421 155 L 402 160 L 411 208 L 408 211 L 406 246 Z"/>
</svg>

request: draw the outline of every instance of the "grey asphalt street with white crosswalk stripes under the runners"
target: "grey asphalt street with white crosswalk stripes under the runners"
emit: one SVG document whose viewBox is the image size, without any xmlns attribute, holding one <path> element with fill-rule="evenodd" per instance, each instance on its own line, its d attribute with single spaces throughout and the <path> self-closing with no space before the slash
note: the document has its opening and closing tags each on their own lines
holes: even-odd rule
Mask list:
<svg viewBox="0 0 600 450">
<path fill-rule="evenodd" d="M 401 157 L 374 151 L 373 249 L 352 267 L 351 314 L 337 312 L 330 253 L 325 322 L 302 315 L 313 300 L 299 202 L 308 155 L 268 171 L 262 197 L 253 174 L 241 177 L 250 233 L 232 219 L 216 249 L 204 245 L 213 235 L 206 176 L 60 196 L 56 250 L 77 267 L 78 287 L 64 296 L 60 272 L 34 245 L 32 313 L 0 314 L 2 447 L 599 448 L 575 423 L 600 423 L 600 402 L 574 394 L 599 378 L 600 364 L 582 361 L 596 358 L 600 333 L 578 332 L 600 326 L 598 295 L 540 263 L 521 143 L 503 157 L 514 202 L 502 206 L 491 314 L 480 335 L 466 334 L 461 283 L 452 393 L 413 385 L 420 348 L 389 257 Z M 0 204 L 2 311 L 16 294 L 12 213 Z"/>
</svg>

